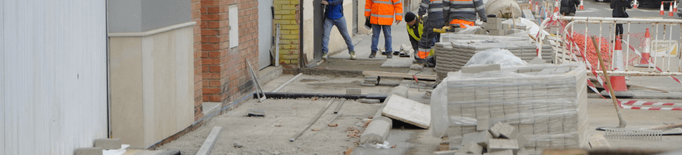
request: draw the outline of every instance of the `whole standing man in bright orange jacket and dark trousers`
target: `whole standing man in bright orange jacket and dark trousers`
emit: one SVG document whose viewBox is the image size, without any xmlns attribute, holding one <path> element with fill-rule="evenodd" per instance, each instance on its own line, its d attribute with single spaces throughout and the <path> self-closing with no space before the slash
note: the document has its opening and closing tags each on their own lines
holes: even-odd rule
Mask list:
<svg viewBox="0 0 682 155">
<path fill-rule="evenodd" d="M 386 47 L 386 58 L 392 58 L 393 46 L 391 38 L 391 25 L 395 16 L 395 23 L 399 24 L 403 19 L 403 4 L 400 0 L 366 0 L 365 18 L 372 24 L 372 53 L 369 58 L 376 57 L 377 45 L 379 44 L 379 34 L 384 31 L 384 46 Z"/>
</svg>

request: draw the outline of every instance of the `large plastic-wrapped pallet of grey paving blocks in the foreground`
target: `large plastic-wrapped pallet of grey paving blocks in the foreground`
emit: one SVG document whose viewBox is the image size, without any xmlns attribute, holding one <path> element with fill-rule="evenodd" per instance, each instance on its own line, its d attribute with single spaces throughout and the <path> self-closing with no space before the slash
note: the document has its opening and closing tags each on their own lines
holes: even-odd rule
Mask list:
<svg viewBox="0 0 682 155">
<path fill-rule="evenodd" d="M 431 96 L 433 135 L 461 137 L 485 120 L 514 126 L 527 139 L 528 150 L 585 148 L 586 78 L 580 63 L 451 72 Z"/>
</svg>

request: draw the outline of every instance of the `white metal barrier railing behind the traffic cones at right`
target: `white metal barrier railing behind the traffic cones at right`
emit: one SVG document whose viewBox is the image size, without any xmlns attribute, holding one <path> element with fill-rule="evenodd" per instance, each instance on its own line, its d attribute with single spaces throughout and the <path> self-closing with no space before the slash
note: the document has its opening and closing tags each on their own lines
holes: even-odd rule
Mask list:
<svg viewBox="0 0 682 155">
<path fill-rule="evenodd" d="M 611 52 L 610 58 L 611 59 L 611 65 L 609 68 L 608 74 L 609 75 L 617 75 L 617 76 L 680 76 L 682 75 L 682 59 L 678 60 L 678 69 L 677 71 L 671 71 L 671 58 L 672 57 L 680 57 L 680 50 L 679 50 L 679 45 L 680 45 L 680 40 L 682 40 L 682 35 L 680 35 L 680 38 L 675 38 L 677 40 L 673 40 L 673 27 L 674 26 L 680 26 L 680 33 L 682 34 L 682 20 L 678 19 L 638 19 L 638 18 L 605 18 L 605 17 L 567 17 L 567 16 L 561 16 L 558 15 L 557 13 L 554 13 L 553 16 L 551 16 L 548 20 L 544 20 L 542 24 L 540 25 L 541 30 L 544 30 L 546 26 L 549 25 L 549 23 L 558 23 L 558 26 L 561 26 L 561 29 L 555 29 L 556 32 L 550 32 L 550 33 L 555 33 L 558 34 L 559 36 L 555 38 L 559 38 L 557 46 L 559 50 L 555 50 L 555 58 L 554 58 L 554 63 L 555 64 L 563 64 L 563 63 L 569 63 L 569 62 L 575 62 L 575 61 L 588 61 L 585 58 L 580 59 L 579 57 L 585 57 L 588 55 L 587 53 L 587 38 L 589 32 L 588 25 L 593 25 L 593 24 L 598 24 L 599 25 L 599 34 L 598 34 L 598 39 L 599 43 L 594 45 L 594 48 L 601 49 L 601 42 L 602 42 L 602 32 L 604 31 L 604 25 L 608 25 L 609 29 L 609 40 L 616 40 L 615 36 L 615 27 L 616 24 L 623 24 L 623 35 L 626 36 L 622 38 L 622 43 L 623 43 L 623 52 L 625 52 L 625 61 L 622 61 L 622 59 L 619 61 L 616 58 L 622 58 L 623 56 L 621 55 L 616 55 L 614 54 L 619 54 L 620 52 Z M 564 24 L 565 23 L 565 24 Z M 577 23 L 581 23 L 585 25 L 585 37 L 584 37 L 584 45 L 582 47 L 579 47 L 573 40 L 572 36 L 574 31 L 574 27 Z M 670 50 L 663 53 L 663 55 L 658 55 L 659 53 L 658 48 L 659 46 L 653 46 L 650 47 L 651 52 L 651 59 L 649 59 L 648 62 L 648 68 L 647 69 L 638 69 L 638 71 L 631 70 L 630 66 L 632 65 L 630 63 L 630 52 L 633 51 L 635 54 L 639 55 L 641 57 L 641 52 L 637 50 L 631 43 L 630 43 L 630 30 L 631 30 L 631 24 L 651 24 L 652 29 L 652 35 L 651 35 L 651 41 L 648 42 L 649 44 L 651 43 L 661 43 L 665 42 L 665 40 L 660 40 L 660 39 L 668 39 L 667 43 L 669 44 L 668 47 L 672 47 L 673 44 L 677 45 L 677 48 L 674 48 L 675 51 Z M 661 31 L 663 33 L 663 36 L 659 36 L 659 27 L 663 27 L 663 30 Z M 669 30 L 669 31 L 668 31 Z M 551 31 L 551 30 L 550 30 Z M 569 33 L 571 32 L 571 33 Z M 616 51 L 615 50 L 615 41 L 612 41 L 610 43 L 610 50 L 611 51 Z M 539 41 L 539 44 L 542 44 L 542 40 Z M 644 50 L 647 50 L 644 48 Z M 541 55 L 542 52 L 542 46 L 538 46 L 538 55 Z M 670 55 L 672 52 L 675 52 L 676 55 Z M 657 57 L 661 58 L 657 58 Z M 653 59 L 653 60 L 652 60 Z M 657 61 L 661 61 L 661 68 L 656 67 L 656 64 L 659 64 Z M 589 64 L 588 64 L 589 65 Z M 674 65 L 674 64 L 673 64 Z M 597 67 L 597 66 L 594 66 Z M 618 68 L 620 67 L 620 68 Z"/>
</svg>

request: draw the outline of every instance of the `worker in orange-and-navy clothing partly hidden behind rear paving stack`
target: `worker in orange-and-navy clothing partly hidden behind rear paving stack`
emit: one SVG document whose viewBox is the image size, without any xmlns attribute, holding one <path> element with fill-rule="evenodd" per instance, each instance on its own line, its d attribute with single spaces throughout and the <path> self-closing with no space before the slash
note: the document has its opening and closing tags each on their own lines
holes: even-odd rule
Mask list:
<svg viewBox="0 0 682 155">
<path fill-rule="evenodd" d="M 450 26 L 454 28 L 474 26 L 477 13 L 481 21 L 488 21 L 483 0 L 451 0 L 450 18 L 448 21 L 450 21 Z"/>
</svg>

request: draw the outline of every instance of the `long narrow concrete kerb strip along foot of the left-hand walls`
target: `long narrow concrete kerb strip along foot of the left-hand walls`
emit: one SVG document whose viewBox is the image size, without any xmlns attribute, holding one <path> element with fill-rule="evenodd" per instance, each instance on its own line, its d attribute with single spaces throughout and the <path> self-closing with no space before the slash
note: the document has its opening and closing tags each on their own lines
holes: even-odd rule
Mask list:
<svg viewBox="0 0 682 155">
<path fill-rule="evenodd" d="M 205 116 L 204 118 L 201 118 L 201 119 L 195 121 L 194 123 L 192 123 L 191 125 L 189 125 L 185 129 L 180 130 L 180 131 L 176 132 L 175 134 L 168 136 L 168 137 L 162 139 L 161 141 L 158 141 L 158 142 L 152 144 L 151 146 L 147 147 L 146 150 L 156 150 L 159 146 L 162 146 L 163 144 L 167 144 L 167 143 L 169 143 L 175 139 L 180 138 L 181 136 L 184 136 L 185 134 L 187 134 L 189 132 L 192 132 L 192 131 L 198 129 L 199 127 L 203 126 L 205 121 L 206 122 L 210 121 L 215 116 L 215 114 L 222 115 L 222 114 L 224 114 L 223 111 L 231 110 L 230 108 L 233 105 L 236 105 L 236 107 L 238 107 L 242 103 L 245 103 L 246 99 L 252 98 L 253 94 L 255 94 L 255 93 L 256 93 L 256 91 L 254 90 L 253 92 L 246 94 L 244 97 L 242 97 L 236 101 L 233 101 L 232 103 L 221 108 L 220 110 L 214 111 L 211 114 Z M 225 111 L 225 113 L 227 113 L 227 111 Z"/>
</svg>

